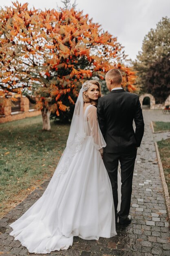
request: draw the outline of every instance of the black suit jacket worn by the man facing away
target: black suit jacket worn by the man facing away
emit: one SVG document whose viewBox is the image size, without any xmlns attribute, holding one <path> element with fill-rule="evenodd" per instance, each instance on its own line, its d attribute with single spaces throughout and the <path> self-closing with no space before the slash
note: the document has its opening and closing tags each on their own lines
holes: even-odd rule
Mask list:
<svg viewBox="0 0 170 256">
<path fill-rule="evenodd" d="M 140 146 L 144 135 L 144 119 L 137 94 L 123 89 L 111 91 L 99 98 L 97 116 L 107 144 L 105 152 L 124 152 Z"/>
</svg>

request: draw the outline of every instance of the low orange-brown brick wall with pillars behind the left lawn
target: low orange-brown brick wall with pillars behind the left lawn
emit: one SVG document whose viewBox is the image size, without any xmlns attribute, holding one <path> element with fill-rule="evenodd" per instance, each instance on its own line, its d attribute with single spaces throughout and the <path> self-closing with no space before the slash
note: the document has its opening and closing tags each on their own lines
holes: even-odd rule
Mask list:
<svg viewBox="0 0 170 256">
<path fill-rule="evenodd" d="M 41 115 L 40 110 L 29 109 L 29 99 L 21 97 L 21 111 L 11 113 L 11 99 L 4 99 L 3 104 L 0 104 L 0 124 L 9 121 L 19 120 L 26 117 L 35 117 Z"/>
</svg>

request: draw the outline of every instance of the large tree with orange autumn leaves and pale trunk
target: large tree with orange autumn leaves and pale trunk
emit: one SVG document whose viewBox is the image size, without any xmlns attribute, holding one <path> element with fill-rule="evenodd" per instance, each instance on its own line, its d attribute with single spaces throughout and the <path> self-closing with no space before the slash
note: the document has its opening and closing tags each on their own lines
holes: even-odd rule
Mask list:
<svg viewBox="0 0 170 256">
<path fill-rule="evenodd" d="M 117 38 L 82 11 L 30 10 L 18 1 L 0 10 L 0 96 L 24 93 L 32 102 L 36 96 L 44 130 L 51 112 L 69 113 L 84 81 L 104 79 L 111 68 L 119 68 L 123 87 L 134 91 L 125 58 Z"/>
</svg>

